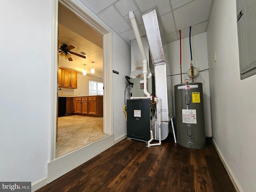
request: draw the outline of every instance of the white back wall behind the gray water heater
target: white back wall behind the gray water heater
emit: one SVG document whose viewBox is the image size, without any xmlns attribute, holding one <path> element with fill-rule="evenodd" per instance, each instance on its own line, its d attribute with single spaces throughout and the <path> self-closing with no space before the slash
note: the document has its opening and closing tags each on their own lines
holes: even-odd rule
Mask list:
<svg viewBox="0 0 256 192">
<path fill-rule="evenodd" d="M 193 28 L 191 29 L 193 30 Z M 189 38 L 181 40 L 182 47 L 182 73 L 190 69 L 190 46 Z M 206 33 L 191 36 L 192 59 L 194 67 L 198 70 L 208 69 L 208 54 Z M 168 57 L 171 67 L 171 74 L 178 74 L 172 76 L 172 99 L 174 105 L 174 85 L 180 84 L 180 40 L 167 44 Z M 182 82 L 184 79 L 190 79 L 187 74 L 182 75 Z M 188 81 L 192 82 L 192 81 Z M 208 70 L 199 72 L 198 76 L 194 78 L 194 82 L 203 84 L 204 93 L 204 119 L 205 119 L 205 134 L 207 137 L 212 137 L 211 113 L 210 113 L 210 90 L 209 90 L 209 75 Z M 175 114 L 175 107 L 174 107 Z"/>
</svg>

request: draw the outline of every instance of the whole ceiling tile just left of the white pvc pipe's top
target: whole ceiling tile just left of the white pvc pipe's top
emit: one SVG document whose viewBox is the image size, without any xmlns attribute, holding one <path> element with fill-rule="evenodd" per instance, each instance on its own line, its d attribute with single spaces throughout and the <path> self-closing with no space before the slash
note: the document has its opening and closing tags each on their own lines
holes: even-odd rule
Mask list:
<svg viewBox="0 0 256 192">
<path fill-rule="evenodd" d="M 126 20 L 118 13 L 114 6 L 110 6 L 98 16 L 117 34 L 129 30 L 131 27 Z"/>
</svg>

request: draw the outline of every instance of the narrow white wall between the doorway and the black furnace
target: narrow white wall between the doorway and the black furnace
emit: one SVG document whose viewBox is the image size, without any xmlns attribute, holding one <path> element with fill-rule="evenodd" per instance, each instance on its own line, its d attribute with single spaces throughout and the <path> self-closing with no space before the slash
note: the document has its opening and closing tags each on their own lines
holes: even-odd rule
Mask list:
<svg viewBox="0 0 256 192">
<path fill-rule="evenodd" d="M 118 139 L 127 133 L 123 107 L 126 86 L 125 76 L 130 76 L 131 71 L 131 48 L 118 35 L 113 33 L 112 38 L 113 70 L 119 72 L 119 74 L 113 73 L 113 127 L 115 139 Z M 128 98 L 126 97 L 126 99 Z"/>
</svg>

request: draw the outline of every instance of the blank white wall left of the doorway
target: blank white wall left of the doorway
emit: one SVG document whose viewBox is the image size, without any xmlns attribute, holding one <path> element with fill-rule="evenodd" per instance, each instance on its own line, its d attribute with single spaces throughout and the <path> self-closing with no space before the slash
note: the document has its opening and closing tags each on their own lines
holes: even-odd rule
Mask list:
<svg viewBox="0 0 256 192">
<path fill-rule="evenodd" d="M 52 1 L 6 1 L 0 18 L 0 181 L 35 182 L 50 159 Z"/>
</svg>

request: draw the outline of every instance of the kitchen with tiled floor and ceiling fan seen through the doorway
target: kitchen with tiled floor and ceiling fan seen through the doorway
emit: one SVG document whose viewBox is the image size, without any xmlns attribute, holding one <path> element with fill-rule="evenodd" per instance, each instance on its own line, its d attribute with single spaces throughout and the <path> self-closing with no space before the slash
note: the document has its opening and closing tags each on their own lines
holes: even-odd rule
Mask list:
<svg viewBox="0 0 256 192">
<path fill-rule="evenodd" d="M 70 52 L 64 52 L 64 45 L 71 47 L 72 50 L 66 49 L 66 51 Z M 58 47 L 59 90 L 56 158 L 108 136 L 103 131 L 102 114 L 97 114 L 97 116 L 88 115 L 92 114 L 92 112 L 87 111 L 90 104 L 93 105 L 96 102 L 100 112 L 103 111 L 102 96 L 96 96 L 96 102 L 87 100 L 91 98 L 88 97 L 89 95 L 103 94 L 103 89 L 102 91 L 100 89 L 101 86 L 99 88 L 97 88 L 98 86 L 91 86 L 92 83 L 104 84 L 103 35 L 92 29 L 71 10 L 59 3 Z M 66 58 L 67 56 L 70 56 L 70 58 Z M 92 67 L 94 73 L 91 72 Z M 71 75 L 73 71 L 77 73 L 75 89 L 68 88 L 64 84 L 63 75 L 66 70 L 71 70 Z M 83 70 L 87 71 L 86 75 L 82 74 Z M 95 88 L 93 92 L 92 88 Z M 83 101 L 83 99 L 86 100 Z M 62 100 L 63 102 L 61 102 Z M 84 110 L 80 111 L 80 109 Z M 95 112 L 97 113 L 97 111 Z"/>
</svg>

